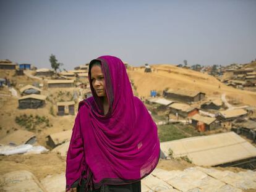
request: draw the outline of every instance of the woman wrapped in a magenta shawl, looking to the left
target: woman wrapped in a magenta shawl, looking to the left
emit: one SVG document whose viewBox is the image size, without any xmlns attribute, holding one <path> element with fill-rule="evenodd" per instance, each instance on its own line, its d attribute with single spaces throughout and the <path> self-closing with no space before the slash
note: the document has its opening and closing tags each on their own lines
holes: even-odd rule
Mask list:
<svg viewBox="0 0 256 192">
<path fill-rule="evenodd" d="M 88 78 L 93 97 L 79 103 L 67 152 L 66 191 L 140 191 L 140 180 L 160 156 L 156 124 L 133 95 L 120 59 L 91 61 Z"/>
</svg>

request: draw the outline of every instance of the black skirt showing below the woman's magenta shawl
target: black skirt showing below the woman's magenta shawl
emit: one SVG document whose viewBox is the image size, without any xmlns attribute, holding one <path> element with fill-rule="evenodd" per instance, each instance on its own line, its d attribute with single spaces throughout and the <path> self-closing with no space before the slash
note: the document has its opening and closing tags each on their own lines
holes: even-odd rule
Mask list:
<svg viewBox="0 0 256 192">
<path fill-rule="evenodd" d="M 77 192 L 85 191 L 85 181 L 81 181 L 81 185 L 77 186 Z M 141 192 L 140 181 L 124 185 L 103 185 L 99 189 L 94 189 L 92 192 Z"/>
</svg>

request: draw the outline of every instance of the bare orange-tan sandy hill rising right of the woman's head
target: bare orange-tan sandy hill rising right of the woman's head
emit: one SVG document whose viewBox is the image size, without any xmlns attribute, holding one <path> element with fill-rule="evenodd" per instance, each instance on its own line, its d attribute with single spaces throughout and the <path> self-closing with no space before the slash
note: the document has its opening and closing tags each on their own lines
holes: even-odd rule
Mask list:
<svg viewBox="0 0 256 192">
<path fill-rule="evenodd" d="M 255 92 L 237 90 L 226 86 L 206 73 L 167 64 L 151 65 L 151 67 L 154 69 L 152 73 L 144 73 L 144 69 L 139 68 L 128 70 L 129 78 L 134 81 L 139 96 L 150 96 L 150 90 L 156 90 L 162 94 L 166 88 L 186 89 L 202 91 L 208 97 L 221 96 L 221 94 L 226 93 L 230 99 L 236 99 L 242 104 L 256 106 Z"/>
</svg>

